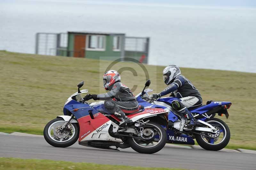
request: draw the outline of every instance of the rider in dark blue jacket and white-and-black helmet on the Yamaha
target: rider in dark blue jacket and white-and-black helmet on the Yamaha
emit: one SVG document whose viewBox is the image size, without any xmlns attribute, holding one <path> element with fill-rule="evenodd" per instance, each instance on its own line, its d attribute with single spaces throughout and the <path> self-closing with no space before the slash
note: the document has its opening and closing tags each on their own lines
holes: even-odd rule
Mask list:
<svg viewBox="0 0 256 170">
<path fill-rule="evenodd" d="M 163 78 L 168 87 L 160 93 L 152 94 L 151 98 L 157 100 L 171 93 L 170 97 L 178 98 L 178 100 L 172 101 L 172 107 L 190 120 L 187 128 L 198 125 L 199 122 L 194 118 L 188 108 L 202 105 L 202 97 L 199 91 L 185 76 L 181 75 L 178 66 L 170 65 L 165 67 Z"/>
</svg>

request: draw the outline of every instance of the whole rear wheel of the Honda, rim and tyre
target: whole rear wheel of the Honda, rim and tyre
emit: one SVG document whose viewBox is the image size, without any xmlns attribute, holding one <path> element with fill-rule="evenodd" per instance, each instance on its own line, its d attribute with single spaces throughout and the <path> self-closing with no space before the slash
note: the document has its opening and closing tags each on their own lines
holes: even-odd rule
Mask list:
<svg viewBox="0 0 256 170">
<path fill-rule="evenodd" d="M 131 148 L 134 150 L 134 151 L 137 151 L 139 153 L 147 153 L 147 154 L 152 154 L 152 153 L 156 153 L 158 151 L 160 151 L 161 149 L 163 149 L 166 141 L 167 141 L 167 137 L 166 137 L 166 131 L 164 130 L 164 128 L 159 125 L 158 123 L 155 123 L 155 122 L 150 122 L 150 123 L 147 123 L 146 125 L 143 125 L 143 126 L 140 126 L 140 127 L 143 127 L 144 130 L 145 129 L 149 129 L 148 132 L 145 131 L 142 132 L 142 136 L 143 134 L 146 134 L 144 135 L 145 138 L 147 138 L 147 135 L 149 133 L 152 133 L 153 131 L 153 138 L 148 140 L 147 141 L 142 141 L 142 140 L 139 140 L 139 139 L 136 139 L 136 138 L 128 138 L 128 143 L 131 145 Z M 150 129 L 152 130 L 150 132 Z M 157 143 L 155 141 L 155 136 L 158 136 L 159 135 L 159 140 L 157 140 Z M 150 134 L 148 135 L 150 137 Z"/>
</svg>

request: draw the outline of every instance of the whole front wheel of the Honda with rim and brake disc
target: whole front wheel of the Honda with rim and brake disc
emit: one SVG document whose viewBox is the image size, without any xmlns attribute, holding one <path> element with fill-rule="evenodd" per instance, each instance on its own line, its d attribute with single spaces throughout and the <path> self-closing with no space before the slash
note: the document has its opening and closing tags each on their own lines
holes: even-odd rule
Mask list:
<svg viewBox="0 0 256 170">
<path fill-rule="evenodd" d="M 60 132 L 60 128 L 65 123 L 62 118 L 51 120 L 44 127 L 44 139 L 54 147 L 66 148 L 73 145 L 79 137 L 79 126 L 77 123 L 70 125 L 71 129 Z"/>
</svg>

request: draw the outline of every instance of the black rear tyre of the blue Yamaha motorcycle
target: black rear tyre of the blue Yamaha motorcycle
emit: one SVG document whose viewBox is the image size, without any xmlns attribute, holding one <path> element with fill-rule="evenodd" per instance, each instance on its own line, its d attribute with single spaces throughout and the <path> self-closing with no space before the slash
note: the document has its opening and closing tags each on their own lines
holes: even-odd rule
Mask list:
<svg viewBox="0 0 256 170">
<path fill-rule="evenodd" d="M 228 125 L 223 121 L 220 120 L 218 118 L 211 118 L 209 120 L 205 121 L 206 123 L 209 123 L 211 125 L 215 124 L 219 124 L 222 131 L 223 131 L 223 140 L 220 141 L 220 143 L 214 144 L 214 143 L 210 143 L 210 141 L 205 141 L 203 136 L 201 135 L 196 135 L 196 142 L 205 150 L 209 150 L 209 151 L 219 151 L 223 148 L 225 148 L 230 140 L 230 130 L 228 128 Z M 214 126 L 214 125 L 213 125 Z M 225 138 L 224 138 L 225 137 Z M 215 138 L 216 139 L 216 138 Z"/>
</svg>

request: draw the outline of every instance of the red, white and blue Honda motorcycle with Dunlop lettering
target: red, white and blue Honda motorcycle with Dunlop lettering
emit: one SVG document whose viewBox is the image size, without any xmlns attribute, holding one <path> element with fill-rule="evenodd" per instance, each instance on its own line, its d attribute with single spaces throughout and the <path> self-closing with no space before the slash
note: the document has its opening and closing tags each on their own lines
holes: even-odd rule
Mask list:
<svg viewBox="0 0 256 170">
<path fill-rule="evenodd" d="M 80 145 L 88 147 L 111 150 L 131 147 L 137 152 L 148 154 L 164 147 L 167 139 L 166 129 L 162 126 L 168 125 L 168 111 L 140 108 L 138 112 L 128 115 L 133 123 L 120 131 L 121 120 L 104 110 L 104 102 L 88 104 L 83 100 L 81 94 L 88 93 L 86 89 L 79 90 L 83 85 L 84 81 L 80 82 L 77 85 L 78 92 L 66 101 L 64 115 L 57 116 L 45 126 L 44 138 L 49 144 L 68 147 L 78 139 Z"/>
</svg>

